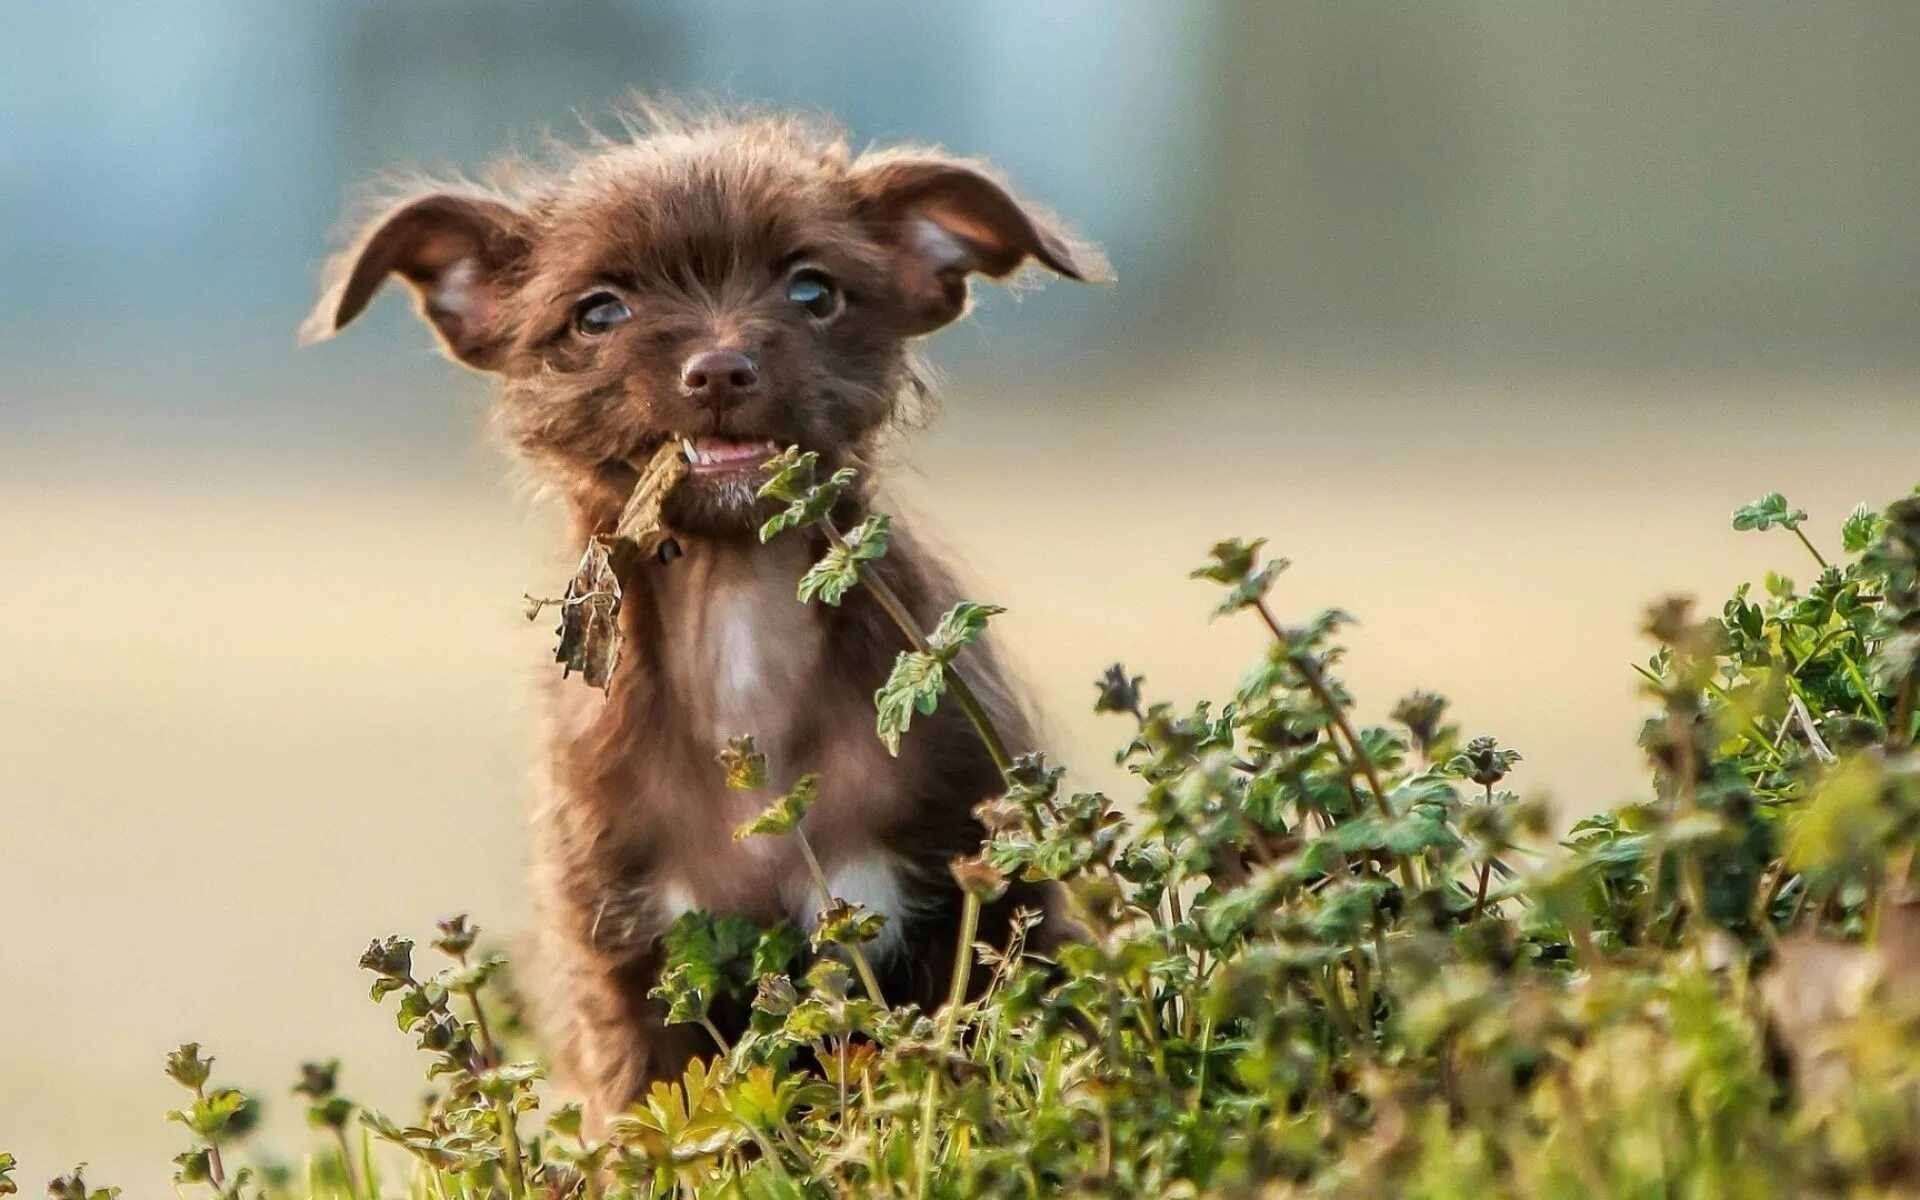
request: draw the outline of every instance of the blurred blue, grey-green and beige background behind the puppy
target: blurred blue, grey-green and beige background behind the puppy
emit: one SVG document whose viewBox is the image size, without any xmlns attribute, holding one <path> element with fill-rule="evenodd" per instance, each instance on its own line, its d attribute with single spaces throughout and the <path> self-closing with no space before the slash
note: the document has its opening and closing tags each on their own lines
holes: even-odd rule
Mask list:
<svg viewBox="0 0 1920 1200">
<path fill-rule="evenodd" d="M 1000 161 L 1114 288 L 933 346 L 902 505 L 1087 785 L 1123 659 L 1223 695 L 1187 570 L 1263 534 L 1348 678 L 1423 685 L 1563 816 L 1634 797 L 1642 605 L 1834 547 L 1920 478 L 1920 8 L 173 0 L 0 8 L 0 1148 L 134 1194 L 161 1056 L 411 1110 L 367 939 L 524 931 L 553 513 L 397 296 L 294 348 L 353 186 L 630 88 Z M 397 288 L 396 288 L 397 294 Z"/>
</svg>

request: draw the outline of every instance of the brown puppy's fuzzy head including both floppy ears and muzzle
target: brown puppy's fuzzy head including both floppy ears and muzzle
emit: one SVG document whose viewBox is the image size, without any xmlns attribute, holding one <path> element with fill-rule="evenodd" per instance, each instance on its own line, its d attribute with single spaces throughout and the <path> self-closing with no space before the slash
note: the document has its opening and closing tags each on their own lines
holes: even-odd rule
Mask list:
<svg viewBox="0 0 1920 1200">
<path fill-rule="evenodd" d="M 983 163 L 851 156 L 789 119 L 655 123 L 513 186 L 420 188 L 328 269 L 324 338 L 399 275 L 457 361 L 503 378 L 501 422 L 582 501 L 685 438 L 689 532 L 751 528 L 783 445 L 856 461 L 912 384 L 908 342 L 966 311 L 968 276 L 1106 271 Z"/>
</svg>

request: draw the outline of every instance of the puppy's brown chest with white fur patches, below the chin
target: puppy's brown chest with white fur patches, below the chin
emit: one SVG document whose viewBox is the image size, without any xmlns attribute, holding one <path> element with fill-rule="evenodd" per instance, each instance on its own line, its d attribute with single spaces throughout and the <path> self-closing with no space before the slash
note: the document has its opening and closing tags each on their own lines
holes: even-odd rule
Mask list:
<svg viewBox="0 0 1920 1200">
<path fill-rule="evenodd" d="M 822 860 L 828 893 L 887 918 L 872 952 L 906 947 L 908 925 L 929 904 L 922 874 L 887 849 L 877 831 L 899 820 L 912 795 L 899 760 L 885 755 L 870 720 L 826 712 L 868 710 L 872 684 L 854 685 L 831 660 L 820 609 L 795 586 L 810 559 L 799 540 L 772 545 L 687 545 L 685 557 L 651 564 L 637 603 L 653 605 L 651 703 L 641 708 L 632 753 L 632 793 L 609 797 L 626 808 L 645 870 L 618 881 L 614 908 L 637 918 L 622 939 L 662 929 L 695 910 L 735 912 L 756 922 L 812 929 L 826 908 L 793 833 L 735 839 L 733 831 L 801 774 L 820 776 L 804 829 Z M 751 733 L 768 758 L 766 789 L 733 791 L 718 753 Z"/>
</svg>

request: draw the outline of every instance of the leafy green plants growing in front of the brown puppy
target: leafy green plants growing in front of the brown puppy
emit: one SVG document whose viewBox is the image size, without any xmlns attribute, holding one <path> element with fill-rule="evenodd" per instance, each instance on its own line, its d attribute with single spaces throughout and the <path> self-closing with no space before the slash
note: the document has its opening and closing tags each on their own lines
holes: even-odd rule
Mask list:
<svg viewBox="0 0 1920 1200">
<path fill-rule="evenodd" d="M 353 1200 L 1920 1188 L 1920 497 L 1849 516 L 1837 561 L 1784 497 L 1741 507 L 1736 528 L 1791 532 L 1814 582 L 1768 576 L 1709 616 L 1655 605 L 1638 668 L 1651 795 L 1551 845 L 1544 808 L 1505 787 L 1519 753 L 1461 739 L 1438 695 L 1405 697 L 1392 726 L 1356 718 L 1346 616 L 1284 620 L 1286 563 L 1260 541 L 1221 541 L 1194 572 L 1223 588 L 1221 616 L 1269 636 L 1240 687 L 1175 708 L 1114 666 L 1094 705 L 1125 722 L 1135 795 L 1073 791 L 1044 756 L 1008 756 L 972 703 L 962 647 L 998 609 L 916 628 L 866 570 L 885 518 L 831 524 L 851 478 L 785 455 L 766 493 L 787 509 L 764 536 L 822 528 L 801 599 L 872 588 L 899 620 L 906 649 L 876 695 L 889 747 L 952 701 L 1000 762 L 989 841 L 954 864 L 964 920 L 1008 877 L 1056 879 L 1087 937 L 1052 962 L 1021 952 L 1025 924 L 1012 945 L 962 939 L 958 966 L 979 956 L 991 985 L 927 1014 L 885 1002 L 860 950 L 879 918 L 824 887 L 810 947 L 689 914 L 659 995 L 695 1023 L 743 998 L 747 1033 L 707 1023 L 714 1056 L 607 1131 L 574 1106 L 536 1131 L 538 1069 L 503 1062 L 484 1008 L 499 958 L 474 958 L 457 918 L 426 981 L 403 939 L 363 958 L 444 1087 L 417 1123 L 359 1110 L 336 1064 L 309 1064 L 296 1091 L 324 1148 L 305 1179 L 228 1177 L 250 1104 L 207 1091 L 207 1060 L 182 1046 L 169 1073 L 200 1139 L 182 1185 Z M 747 737 L 714 770 L 766 783 Z M 739 835 L 804 839 L 814 783 Z M 413 1160 L 394 1187 L 376 1144 Z M 54 1194 L 100 1198 L 79 1173 Z"/>
</svg>

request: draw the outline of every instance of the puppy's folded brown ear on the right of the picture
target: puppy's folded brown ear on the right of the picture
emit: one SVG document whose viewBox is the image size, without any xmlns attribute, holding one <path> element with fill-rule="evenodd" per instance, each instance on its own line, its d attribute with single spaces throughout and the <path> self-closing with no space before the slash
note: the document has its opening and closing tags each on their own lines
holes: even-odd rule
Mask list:
<svg viewBox="0 0 1920 1200">
<path fill-rule="evenodd" d="M 895 257 L 910 332 L 960 317 L 968 275 L 1006 278 L 1029 257 L 1077 280 L 1112 278 L 1098 250 L 1023 205 L 983 163 L 939 154 L 879 154 L 854 165 L 862 215 Z"/>
</svg>

